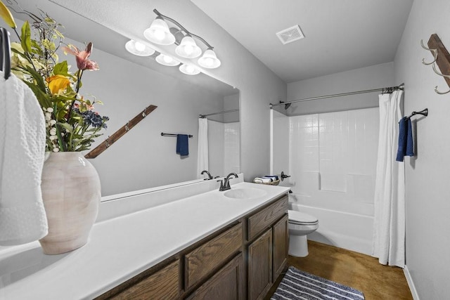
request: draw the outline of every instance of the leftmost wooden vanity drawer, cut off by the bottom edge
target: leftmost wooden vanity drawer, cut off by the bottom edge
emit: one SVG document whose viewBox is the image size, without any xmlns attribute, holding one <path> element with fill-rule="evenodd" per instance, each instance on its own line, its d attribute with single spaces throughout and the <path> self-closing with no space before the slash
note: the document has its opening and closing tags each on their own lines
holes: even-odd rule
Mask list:
<svg viewBox="0 0 450 300">
<path fill-rule="evenodd" d="M 179 299 L 179 259 L 108 299 Z M 105 298 L 106 299 L 106 298 Z"/>
</svg>

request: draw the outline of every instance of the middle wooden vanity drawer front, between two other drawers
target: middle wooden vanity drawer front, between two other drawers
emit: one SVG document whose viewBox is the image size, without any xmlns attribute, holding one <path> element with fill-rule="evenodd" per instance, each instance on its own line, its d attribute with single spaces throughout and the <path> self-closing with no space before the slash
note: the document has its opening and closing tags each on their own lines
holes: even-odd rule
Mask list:
<svg viewBox="0 0 450 300">
<path fill-rule="evenodd" d="M 214 268 L 221 266 L 242 247 L 242 223 L 186 254 L 186 289 L 195 285 Z"/>
</svg>

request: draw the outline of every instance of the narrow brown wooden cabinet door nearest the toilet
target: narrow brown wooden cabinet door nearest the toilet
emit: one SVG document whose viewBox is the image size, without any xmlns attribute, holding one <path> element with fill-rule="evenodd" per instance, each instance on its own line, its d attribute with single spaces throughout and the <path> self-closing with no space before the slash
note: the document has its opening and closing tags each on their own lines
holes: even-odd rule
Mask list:
<svg viewBox="0 0 450 300">
<path fill-rule="evenodd" d="M 274 225 L 274 280 L 286 266 L 289 250 L 288 215 Z"/>
</svg>

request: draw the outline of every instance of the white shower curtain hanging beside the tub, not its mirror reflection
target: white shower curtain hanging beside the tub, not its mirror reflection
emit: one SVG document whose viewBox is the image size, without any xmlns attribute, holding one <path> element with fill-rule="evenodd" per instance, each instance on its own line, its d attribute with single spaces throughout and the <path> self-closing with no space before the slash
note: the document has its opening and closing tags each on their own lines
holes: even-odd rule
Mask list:
<svg viewBox="0 0 450 300">
<path fill-rule="evenodd" d="M 379 95 L 380 133 L 375 176 L 372 255 L 383 265 L 405 264 L 404 162 L 396 162 L 403 91 Z"/>
</svg>

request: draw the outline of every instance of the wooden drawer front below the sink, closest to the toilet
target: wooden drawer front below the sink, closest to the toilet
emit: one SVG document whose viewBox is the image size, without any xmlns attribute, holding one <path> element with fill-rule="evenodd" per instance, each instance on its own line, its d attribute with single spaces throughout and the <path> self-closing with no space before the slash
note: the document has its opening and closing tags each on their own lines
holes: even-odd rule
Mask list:
<svg viewBox="0 0 450 300">
<path fill-rule="evenodd" d="M 258 211 L 248 218 L 248 240 L 269 228 L 276 220 L 288 213 L 288 196 L 285 195 L 280 200 L 269 205 L 265 209 Z"/>
</svg>

